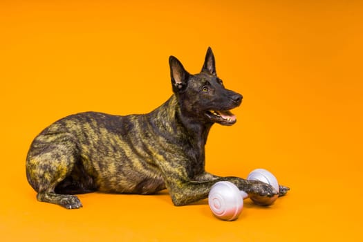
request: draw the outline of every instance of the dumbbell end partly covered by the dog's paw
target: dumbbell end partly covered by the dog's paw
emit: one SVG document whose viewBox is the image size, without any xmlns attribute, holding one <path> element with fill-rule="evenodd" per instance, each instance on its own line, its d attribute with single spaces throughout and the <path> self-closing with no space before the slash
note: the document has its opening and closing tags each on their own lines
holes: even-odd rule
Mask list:
<svg viewBox="0 0 363 242">
<path fill-rule="evenodd" d="M 272 187 L 274 187 L 277 193 L 279 193 L 279 183 L 277 182 L 277 179 L 270 171 L 266 169 L 254 169 L 250 174 L 248 174 L 247 180 L 259 180 L 263 183 L 270 184 Z M 272 196 L 270 198 L 263 196 L 250 196 L 251 200 L 259 205 L 271 205 L 278 197 L 278 195 Z"/>
</svg>

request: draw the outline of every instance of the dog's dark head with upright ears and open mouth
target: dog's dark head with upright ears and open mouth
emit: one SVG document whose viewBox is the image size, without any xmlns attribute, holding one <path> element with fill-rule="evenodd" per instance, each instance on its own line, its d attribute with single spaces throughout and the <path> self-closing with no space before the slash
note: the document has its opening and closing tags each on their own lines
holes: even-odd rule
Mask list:
<svg viewBox="0 0 363 242">
<path fill-rule="evenodd" d="M 212 48 L 208 48 L 201 73 L 191 75 L 176 57 L 169 57 L 171 84 L 183 115 L 203 123 L 232 125 L 236 116 L 230 111 L 242 102 L 242 95 L 225 89 L 216 75 Z"/>
</svg>

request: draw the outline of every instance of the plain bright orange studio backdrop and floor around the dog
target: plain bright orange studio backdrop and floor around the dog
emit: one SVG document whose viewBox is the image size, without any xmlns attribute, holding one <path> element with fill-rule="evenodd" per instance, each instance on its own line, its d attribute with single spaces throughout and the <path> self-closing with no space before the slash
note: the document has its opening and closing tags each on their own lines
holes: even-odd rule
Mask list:
<svg viewBox="0 0 363 242">
<path fill-rule="evenodd" d="M 362 240 L 362 1 L 273 2 L 1 1 L 0 240 Z M 41 129 L 149 112 L 171 95 L 169 55 L 198 73 L 207 46 L 244 96 L 238 122 L 212 129 L 207 170 L 263 167 L 288 196 L 245 201 L 234 222 L 167 192 L 84 194 L 71 211 L 36 201 L 24 164 Z"/>
</svg>

